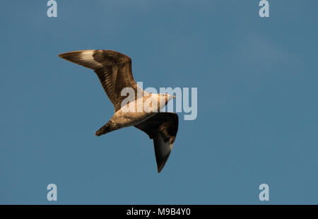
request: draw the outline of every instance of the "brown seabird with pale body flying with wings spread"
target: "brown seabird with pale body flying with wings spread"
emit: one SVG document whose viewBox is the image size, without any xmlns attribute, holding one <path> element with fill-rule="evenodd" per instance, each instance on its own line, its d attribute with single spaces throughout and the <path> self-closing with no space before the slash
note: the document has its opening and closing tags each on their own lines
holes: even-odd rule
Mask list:
<svg viewBox="0 0 318 219">
<path fill-rule="evenodd" d="M 95 132 L 95 136 L 102 136 L 129 126 L 140 129 L 153 139 L 155 161 L 160 173 L 170 156 L 179 125 L 176 113 L 160 112 L 160 109 L 163 109 L 169 100 L 175 98 L 175 95 L 147 93 L 140 88 L 132 74 L 131 58 L 120 52 L 89 49 L 65 52 L 58 56 L 93 69 L 106 95 L 114 105 L 112 118 Z M 122 93 L 124 89 L 130 89 L 133 94 L 129 95 L 129 98 L 126 97 Z M 140 105 L 146 102 L 150 104 L 138 110 Z"/>
</svg>

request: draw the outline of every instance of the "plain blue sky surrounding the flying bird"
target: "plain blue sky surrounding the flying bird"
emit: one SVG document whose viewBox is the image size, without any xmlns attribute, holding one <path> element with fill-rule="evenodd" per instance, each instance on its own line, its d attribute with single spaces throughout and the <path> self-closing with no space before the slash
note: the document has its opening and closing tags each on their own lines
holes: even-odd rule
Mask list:
<svg viewBox="0 0 318 219">
<path fill-rule="evenodd" d="M 318 204 L 318 1 L 1 1 L 0 203 Z M 163 172 L 95 73 L 57 57 L 129 55 L 144 87 L 198 88 Z M 259 184 L 270 201 L 259 201 Z"/>
</svg>

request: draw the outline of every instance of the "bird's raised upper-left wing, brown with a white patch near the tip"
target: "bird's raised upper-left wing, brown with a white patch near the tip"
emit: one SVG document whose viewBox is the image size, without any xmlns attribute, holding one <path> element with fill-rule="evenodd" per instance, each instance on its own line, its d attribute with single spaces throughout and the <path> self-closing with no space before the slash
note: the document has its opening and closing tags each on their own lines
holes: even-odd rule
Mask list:
<svg viewBox="0 0 318 219">
<path fill-rule="evenodd" d="M 122 100 L 126 98 L 121 95 L 123 88 L 134 90 L 134 98 L 131 100 L 136 99 L 137 90 L 143 92 L 134 81 L 131 59 L 124 54 L 112 50 L 80 50 L 59 54 L 59 57 L 93 69 L 102 83 L 102 88 L 112 101 L 115 111 L 120 109 Z"/>
</svg>

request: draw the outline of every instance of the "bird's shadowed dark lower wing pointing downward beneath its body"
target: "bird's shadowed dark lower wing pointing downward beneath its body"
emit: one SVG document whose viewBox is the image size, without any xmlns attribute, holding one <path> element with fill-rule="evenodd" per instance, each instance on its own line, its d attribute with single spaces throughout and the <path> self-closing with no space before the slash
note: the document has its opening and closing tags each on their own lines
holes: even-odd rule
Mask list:
<svg viewBox="0 0 318 219">
<path fill-rule="evenodd" d="M 146 132 L 153 139 L 158 172 L 163 170 L 165 162 L 169 158 L 175 137 L 177 136 L 178 124 L 179 119 L 177 114 L 158 112 L 153 117 L 135 125 L 137 129 Z"/>
</svg>

